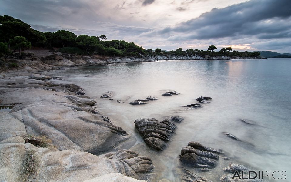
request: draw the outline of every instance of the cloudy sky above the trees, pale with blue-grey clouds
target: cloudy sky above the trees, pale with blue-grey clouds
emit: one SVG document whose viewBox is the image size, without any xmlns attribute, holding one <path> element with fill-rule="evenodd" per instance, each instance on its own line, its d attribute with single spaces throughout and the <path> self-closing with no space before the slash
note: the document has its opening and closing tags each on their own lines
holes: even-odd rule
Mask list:
<svg viewBox="0 0 291 182">
<path fill-rule="evenodd" d="M 145 49 L 291 53 L 291 0 L 0 0 L 0 14 Z"/>
</svg>

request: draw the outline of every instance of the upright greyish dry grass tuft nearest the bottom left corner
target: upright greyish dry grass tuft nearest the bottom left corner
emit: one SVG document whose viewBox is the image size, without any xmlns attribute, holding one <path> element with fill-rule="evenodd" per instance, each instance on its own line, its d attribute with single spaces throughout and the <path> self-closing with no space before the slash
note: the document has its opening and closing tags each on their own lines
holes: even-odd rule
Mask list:
<svg viewBox="0 0 291 182">
<path fill-rule="evenodd" d="M 26 152 L 25 159 L 23 160 L 21 167 L 21 177 L 22 181 L 28 181 L 31 177 L 32 179 L 36 179 L 38 176 L 38 156 L 35 153 L 35 150 L 28 150 Z"/>
</svg>

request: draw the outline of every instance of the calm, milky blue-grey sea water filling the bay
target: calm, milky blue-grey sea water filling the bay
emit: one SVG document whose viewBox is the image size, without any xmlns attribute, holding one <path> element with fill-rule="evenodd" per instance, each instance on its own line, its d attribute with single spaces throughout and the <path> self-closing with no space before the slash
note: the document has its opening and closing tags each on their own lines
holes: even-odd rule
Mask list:
<svg viewBox="0 0 291 182">
<path fill-rule="evenodd" d="M 152 157 L 155 180 L 176 179 L 181 148 L 190 141 L 223 149 L 237 163 L 257 170 L 284 170 L 291 177 L 291 59 L 120 63 L 66 67 L 47 74 L 79 85 L 87 96 L 96 97 L 101 113 L 132 135 L 121 148 L 135 146 L 140 155 Z M 168 89 L 181 95 L 161 96 Z M 112 92 L 114 101 L 99 98 L 107 91 Z M 142 106 L 128 104 L 147 96 L 159 100 Z M 202 108 L 184 110 L 182 106 L 196 103 L 199 96 L 213 100 Z M 162 120 L 174 115 L 185 120 L 177 124 L 176 134 L 165 151 L 137 147 L 143 140 L 136 133 L 135 119 Z M 252 120 L 256 125 L 247 125 L 240 119 Z M 223 132 L 242 142 L 226 137 Z M 219 161 L 211 172 L 191 170 L 218 181 L 222 168 L 229 162 Z"/>
</svg>

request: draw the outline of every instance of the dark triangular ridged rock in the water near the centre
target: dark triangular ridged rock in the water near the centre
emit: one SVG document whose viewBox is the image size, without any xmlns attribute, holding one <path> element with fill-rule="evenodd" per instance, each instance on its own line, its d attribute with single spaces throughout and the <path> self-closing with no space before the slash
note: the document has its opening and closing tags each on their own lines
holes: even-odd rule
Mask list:
<svg viewBox="0 0 291 182">
<path fill-rule="evenodd" d="M 137 119 L 134 124 L 145 143 L 157 150 L 166 147 L 166 142 L 170 140 L 176 129 L 176 125 L 169 120 L 159 122 L 155 118 Z"/>
</svg>

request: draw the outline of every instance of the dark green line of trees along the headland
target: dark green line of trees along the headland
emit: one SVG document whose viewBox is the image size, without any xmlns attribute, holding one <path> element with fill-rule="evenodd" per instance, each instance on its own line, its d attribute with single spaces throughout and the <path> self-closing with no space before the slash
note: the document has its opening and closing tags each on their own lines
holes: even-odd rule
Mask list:
<svg viewBox="0 0 291 182">
<path fill-rule="evenodd" d="M 0 15 L 0 55 L 10 55 L 18 50 L 18 56 L 21 55 L 23 48 L 31 49 L 31 47 L 44 47 L 48 49 L 59 48 L 59 51 L 69 54 L 81 55 L 108 55 L 108 56 L 137 56 L 142 55 L 176 55 L 186 56 L 198 54 L 199 56 L 208 55 L 238 55 L 238 51 L 232 51 L 231 47 L 222 48 L 219 52 L 214 52 L 216 46 L 210 45 L 207 51 L 198 49 L 187 49 L 183 51 L 182 48 L 176 51 L 165 52 L 160 48 L 143 49 L 136 45 L 134 42 L 126 42 L 124 40 L 111 40 L 107 41 L 106 35 L 88 36 L 88 35 L 75 35 L 73 32 L 66 30 L 58 30 L 56 32 L 41 32 L 34 30 L 27 23 L 15 19 L 12 16 Z M 10 51 L 12 50 L 12 51 Z M 211 54 L 210 54 L 211 53 Z M 249 53 L 259 56 L 257 53 Z"/>
</svg>

